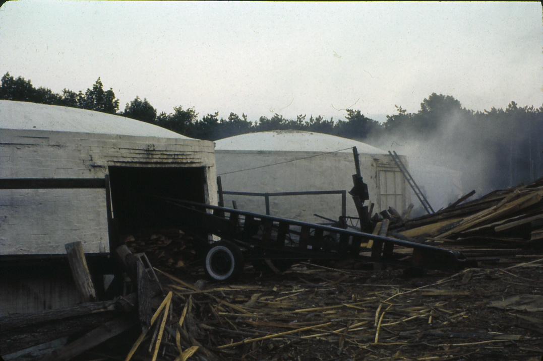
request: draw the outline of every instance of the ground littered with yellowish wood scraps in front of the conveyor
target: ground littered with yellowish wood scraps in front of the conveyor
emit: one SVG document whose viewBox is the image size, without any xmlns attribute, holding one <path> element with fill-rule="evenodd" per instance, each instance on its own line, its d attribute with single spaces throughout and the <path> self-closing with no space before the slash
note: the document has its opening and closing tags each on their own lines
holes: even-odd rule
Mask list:
<svg viewBox="0 0 543 361">
<path fill-rule="evenodd" d="M 180 359 L 188 350 L 194 360 L 535 360 L 543 355 L 538 323 L 543 312 L 492 303 L 519 294 L 540 302 L 543 259 L 452 276 L 436 273 L 424 281 L 406 280 L 396 270 L 345 274 L 298 265 L 281 280 L 248 273 L 236 284 L 201 288 L 157 273 L 168 290 L 163 304 L 172 305 L 172 317 L 149 330 L 137 353 L 142 359 L 159 343 L 161 330 L 162 359 Z"/>
</svg>

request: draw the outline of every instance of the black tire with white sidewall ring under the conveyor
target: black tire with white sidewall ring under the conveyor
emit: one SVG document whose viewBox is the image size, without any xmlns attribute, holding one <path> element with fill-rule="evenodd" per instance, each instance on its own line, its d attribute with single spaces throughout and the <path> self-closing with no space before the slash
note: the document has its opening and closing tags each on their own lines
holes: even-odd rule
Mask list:
<svg viewBox="0 0 543 361">
<path fill-rule="evenodd" d="M 220 259 L 217 256 L 223 257 L 226 261 L 228 270 L 221 270 Z M 241 249 L 235 243 L 230 241 L 213 242 L 207 250 L 204 258 L 204 270 L 207 276 L 213 281 L 228 281 L 238 276 L 243 271 L 243 254 Z"/>
</svg>

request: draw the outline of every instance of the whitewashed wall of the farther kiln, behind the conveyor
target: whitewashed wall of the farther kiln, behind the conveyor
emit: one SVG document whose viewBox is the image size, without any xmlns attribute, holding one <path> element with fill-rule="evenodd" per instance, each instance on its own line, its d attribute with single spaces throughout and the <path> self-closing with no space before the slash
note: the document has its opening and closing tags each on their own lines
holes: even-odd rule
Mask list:
<svg viewBox="0 0 543 361">
<path fill-rule="evenodd" d="M 353 185 L 352 175 L 356 172 L 353 156 L 350 152 L 323 154 L 318 152 L 217 150 L 215 156 L 217 174 L 221 176 L 223 189 L 228 191 L 349 191 Z M 316 157 L 260 169 L 222 174 L 311 156 Z M 381 207 L 388 207 L 384 203 L 381 204 L 378 171 L 387 168 L 397 170 L 392 159 L 383 154 L 361 154 L 360 160 L 362 176 L 364 182 L 368 184 L 370 200 L 376 203 L 374 210 L 378 211 Z M 403 189 L 405 188 L 403 179 L 401 182 Z M 403 195 L 405 193 L 405 191 L 402 192 Z M 263 197 L 225 196 L 226 207 L 231 207 L 232 199 L 237 201 L 239 209 L 265 212 Z M 347 215 L 357 216 L 349 194 L 346 201 Z M 405 199 L 402 200 L 402 204 L 405 207 Z M 274 216 L 308 222 L 324 222 L 313 214 L 337 219 L 341 215 L 341 197 L 340 195 L 270 197 L 270 213 Z"/>
</svg>

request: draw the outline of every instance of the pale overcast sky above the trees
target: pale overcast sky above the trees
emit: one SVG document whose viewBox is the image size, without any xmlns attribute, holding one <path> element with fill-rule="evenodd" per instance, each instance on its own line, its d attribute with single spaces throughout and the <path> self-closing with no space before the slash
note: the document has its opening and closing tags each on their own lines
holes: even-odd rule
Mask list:
<svg viewBox="0 0 543 361">
<path fill-rule="evenodd" d="M 539 2 L 10 1 L 0 75 L 55 92 L 100 76 L 121 110 L 139 95 L 159 112 L 251 120 L 416 112 L 432 92 L 471 109 L 541 106 L 541 15 Z"/>
</svg>

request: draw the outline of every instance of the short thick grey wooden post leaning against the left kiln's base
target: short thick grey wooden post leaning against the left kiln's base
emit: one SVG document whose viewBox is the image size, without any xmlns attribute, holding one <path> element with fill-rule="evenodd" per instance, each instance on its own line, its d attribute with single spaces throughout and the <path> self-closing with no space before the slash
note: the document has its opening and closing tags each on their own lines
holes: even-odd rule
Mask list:
<svg viewBox="0 0 543 361">
<path fill-rule="evenodd" d="M 94 291 L 91 273 L 89 272 L 89 267 L 87 266 L 87 261 L 85 260 L 83 245 L 78 241 L 66 243 L 64 247 L 66 248 L 66 253 L 68 254 L 68 262 L 70 262 L 70 268 L 72 269 L 75 287 L 83 298 L 83 301 L 95 301 L 96 291 Z"/>
</svg>

